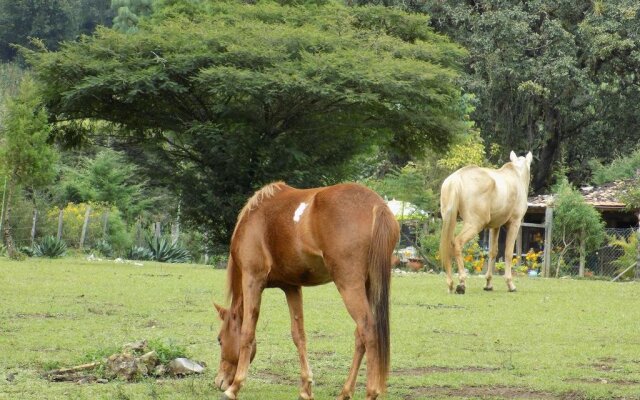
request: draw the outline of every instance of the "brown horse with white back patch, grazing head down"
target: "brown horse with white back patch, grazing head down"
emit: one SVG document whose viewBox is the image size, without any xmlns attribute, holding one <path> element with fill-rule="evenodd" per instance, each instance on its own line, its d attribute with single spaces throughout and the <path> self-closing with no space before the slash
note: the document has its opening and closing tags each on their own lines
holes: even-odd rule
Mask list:
<svg viewBox="0 0 640 400">
<path fill-rule="evenodd" d="M 357 184 L 298 190 L 282 182 L 257 191 L 244 206 L 231 239 L 227 294 L 216 305 L 220 367 L 216 386 L 236 399 L 256 351 L 262 290 L 284 291 L 301 367 L 301 399 L 312 399 L 302 315 L 302 286 L 333 281 L 356 322 L 355 354 L 338 399 L 350 399 L 363 355 L 367 399 L 385 390 L 389 371 L 389 284 L 399 228 L 375 192 Z"/>
</svg>

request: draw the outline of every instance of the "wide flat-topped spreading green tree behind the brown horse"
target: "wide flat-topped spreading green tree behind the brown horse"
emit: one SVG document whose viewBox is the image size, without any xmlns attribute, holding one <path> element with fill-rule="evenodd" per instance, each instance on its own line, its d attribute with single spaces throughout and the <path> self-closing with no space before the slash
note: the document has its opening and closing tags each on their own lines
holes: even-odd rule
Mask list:
<svg viewBox="0 0 640 400">
<path fill-rule="evenodd" d="M 375 148 L 443 147 L 465 110 L 464 52 L 424 16 L 384 7 L 171 1 L 139 31 L 25 52 L 59 135 L 112 123 L 225 243 L 256 188 L 353 176 Z"/>
</svg>

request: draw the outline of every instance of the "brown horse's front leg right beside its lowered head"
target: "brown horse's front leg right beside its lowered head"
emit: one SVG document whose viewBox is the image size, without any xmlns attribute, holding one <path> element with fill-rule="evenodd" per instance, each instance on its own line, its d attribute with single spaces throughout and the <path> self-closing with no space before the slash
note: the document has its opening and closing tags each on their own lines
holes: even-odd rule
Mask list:
<svg viewBox="0 0 640 400">
<path fill-rule="evenodd" d="M 222 395 L 222 400 L 235 400 L 238 392 L 247 379 L 249 364 L 253 354 L 254 341 L 256 339 L 256 324 L 260 315 L 260 301 L 264 283 L 248 275 L 243 276 L 243 319 L 240 330 L 240 353 L 238 355 L 238 367 L 233 383 Z"/>
</svg>

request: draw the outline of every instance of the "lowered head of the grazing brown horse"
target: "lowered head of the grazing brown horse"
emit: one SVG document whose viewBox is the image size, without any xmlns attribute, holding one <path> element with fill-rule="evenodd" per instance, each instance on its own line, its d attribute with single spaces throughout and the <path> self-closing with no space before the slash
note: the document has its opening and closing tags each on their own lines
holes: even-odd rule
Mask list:
<svg viewBox="0 0 640 400">
<path fill-rule="evenodd" d="M 240 331 L 242 328 L 241 311 L 229 310 L 215 304 L 218 316 L 222 321 L 218 344 L 220 345 L 220 366 L 216 375 L 216 387 L 227 390 L 233 383 L 240 355 Z M 241 310 L 241 307 L 240 307 Z M 256 342 L 252 343 L 251 361 L 256 355 Z"/>
</svg>

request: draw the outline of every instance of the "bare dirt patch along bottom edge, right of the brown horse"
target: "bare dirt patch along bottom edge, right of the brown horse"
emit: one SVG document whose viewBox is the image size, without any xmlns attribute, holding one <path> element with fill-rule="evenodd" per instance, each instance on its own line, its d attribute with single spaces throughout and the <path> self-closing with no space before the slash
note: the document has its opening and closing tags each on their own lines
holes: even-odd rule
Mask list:
<svg viewBox="0 0 640 400">
<path fill-rule="evenodd" d="M 414 388 L 414 393 L 405 397 L 405 400 L 425 399 L 432 396 L 455 396 L 462 398 L 502 398 L 502 399 L 527 399 L 527 400 L 584 400 L 586 397 L 579 392 L 567 392 L 555 394 L 512 386 L 467 386 L 462 388 L 451 387 L 422 387 Z"/>
</svg>

